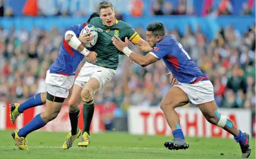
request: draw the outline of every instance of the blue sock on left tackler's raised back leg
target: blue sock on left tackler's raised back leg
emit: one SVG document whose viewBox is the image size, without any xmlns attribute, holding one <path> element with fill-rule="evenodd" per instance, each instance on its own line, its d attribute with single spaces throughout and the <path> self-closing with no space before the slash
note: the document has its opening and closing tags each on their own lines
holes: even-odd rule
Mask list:
<svg viewBox="0 0 256 159">
<path fill-rule="evenodd" d="M 41 100 L 41 93 L 37 93 L 33 97 L 30 97 L 30 99 L 25 100 L 23 103 L 20 104 L 18 111 L 19 113 L 23 113 L 26 109 L 29 109 L 30 107 L 35 107 L 38 105 L 43 105 L 43 102 Z"/>
</svg>

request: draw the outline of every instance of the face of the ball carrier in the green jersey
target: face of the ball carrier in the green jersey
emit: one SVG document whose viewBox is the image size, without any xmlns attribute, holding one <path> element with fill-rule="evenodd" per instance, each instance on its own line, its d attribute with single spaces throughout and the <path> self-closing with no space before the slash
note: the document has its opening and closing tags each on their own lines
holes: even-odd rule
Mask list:
<svg viewBox="0 0 256 159">
<path fill-rule="evenodd" d="M 115 12 L 111 7 L 101 9 L 100 17 L 106 26 L 113 26 L 115 24 Z"/>
</svg>

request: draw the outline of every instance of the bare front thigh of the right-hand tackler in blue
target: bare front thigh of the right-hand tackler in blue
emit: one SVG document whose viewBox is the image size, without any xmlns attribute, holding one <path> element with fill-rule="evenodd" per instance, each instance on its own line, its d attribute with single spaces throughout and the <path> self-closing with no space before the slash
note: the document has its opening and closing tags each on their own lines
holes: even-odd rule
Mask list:
<svg viewBox="0 0 256 159">
<path fill-rule="evenodd" d="M 169 107 L 175 108 L 182 102 L 188 102 L 186 93 L 179 87 L 172 87 L 170 91 L 164 96 L 160 107 L 162 110 L 165 110 Z"/>
</svg>

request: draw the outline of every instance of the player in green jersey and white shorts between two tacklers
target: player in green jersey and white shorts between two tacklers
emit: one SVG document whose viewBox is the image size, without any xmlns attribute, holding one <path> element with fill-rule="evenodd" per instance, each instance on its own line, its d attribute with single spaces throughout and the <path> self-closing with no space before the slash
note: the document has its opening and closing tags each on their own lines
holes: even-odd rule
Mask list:
<svg viewBox="0 0 256 159">
<path fill-rule="evenodd" d="M 98 4 L 97 9 L 100 17 L 92 18 L 90 21 L 90 24 L 95 26 L 98 32 L 97 43 L 91 48 L 91 52 L 97 53 L 97 62 L 94 64 L 86 62 L 75 79 L 73 92 L 69 100 L 71 132 L 69 132 L 62 146 L 64 149 L 71 147 L 74 140 L 81 133 L 77 125 L 81 100 L 83 100 L 84 128 L 78 146 L 87 147 L 90 143 L 89 128 L 94 112 L 93 95 L 115 75 L 121 53 L 116 49 L 111 38 L 114 36 L 118 36 L 120 39 L 128 37 L 129 41 L 142 52 L 152 50 L 150 45 L 141 39 L 131 25 L 115 18 L 113 4 L 103 1 Z"/>
</svg>

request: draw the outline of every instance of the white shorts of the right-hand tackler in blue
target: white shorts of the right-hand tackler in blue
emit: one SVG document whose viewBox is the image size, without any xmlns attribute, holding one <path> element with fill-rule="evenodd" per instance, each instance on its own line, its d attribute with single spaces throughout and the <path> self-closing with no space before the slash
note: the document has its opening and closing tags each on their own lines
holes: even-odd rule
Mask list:
<svg viewBox="0 0 256 159">
<path fill-rule="evenodd" d="M 179 82 L 174 87 L 181 88 L 192 104 L 195 105 L 214 100 L 213 84 L 210 81 L 199 81 L 194 84 Z"/>
</svg>

